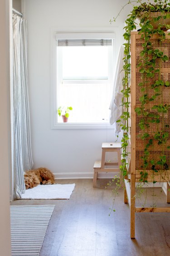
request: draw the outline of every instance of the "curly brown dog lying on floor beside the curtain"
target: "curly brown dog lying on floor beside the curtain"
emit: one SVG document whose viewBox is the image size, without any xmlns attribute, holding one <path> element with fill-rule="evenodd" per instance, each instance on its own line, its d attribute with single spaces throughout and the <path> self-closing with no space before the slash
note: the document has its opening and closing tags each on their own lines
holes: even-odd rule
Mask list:
<svg viewBox="0 0 170 256">
<path fill-rule="evenodd" d="M 31 189 L 39 184 L 54 184 L 54 175 L 47 168 L 38 168 L 26 171 L 24 174 L 25 188 Z"/>
</svg>

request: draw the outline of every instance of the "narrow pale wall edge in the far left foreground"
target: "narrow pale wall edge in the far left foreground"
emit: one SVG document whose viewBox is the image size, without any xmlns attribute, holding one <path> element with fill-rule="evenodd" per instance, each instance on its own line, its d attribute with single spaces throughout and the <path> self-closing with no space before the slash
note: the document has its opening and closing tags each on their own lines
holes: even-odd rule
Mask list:
<svg viewBox="0 0 170 256">
<path fill-rule="evenodd" d="M 0 255 L 10 256 L 10 0 L 0 1 Z"/>
</svg>

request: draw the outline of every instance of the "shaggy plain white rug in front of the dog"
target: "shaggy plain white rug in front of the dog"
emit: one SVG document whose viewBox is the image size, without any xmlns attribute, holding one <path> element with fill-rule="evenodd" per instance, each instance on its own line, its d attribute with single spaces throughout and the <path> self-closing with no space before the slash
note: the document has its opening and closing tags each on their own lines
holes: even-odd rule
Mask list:
<svg viewBox="0 0 170 256">
<path fill-rule="evenodd" d="M 20 199 L 69 199 L 75 184 L 38 185 L 26 189 Z"/>
</svg>

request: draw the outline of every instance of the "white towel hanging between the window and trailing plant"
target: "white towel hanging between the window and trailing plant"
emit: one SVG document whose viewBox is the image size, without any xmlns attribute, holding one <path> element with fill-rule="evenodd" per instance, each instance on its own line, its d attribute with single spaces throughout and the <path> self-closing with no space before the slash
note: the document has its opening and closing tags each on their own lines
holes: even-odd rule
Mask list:
<svg viewBox="0 0 170 256">
<path fill-rule="evenodd" d="M 123 71 L 123 61 L 124 57 L 124 46 L 122 45 L 119 49 L 119 54 L 117 58 L 117 66 L 115 71 L 115 78 L 113 82 L 113 96 L 110 103 L 109 109 L 111 110 L 110 113 L 110 124 L 114 124 L 115 126 L 115 134 L 118 135 L 120 132 L 120 123 L 116 123 L 117 120 L 120 119 L 122 114 L 122 92 L 123 89 L 122 86 L 122 79 L 124 77 L 124 71 Z"/>
</svg>

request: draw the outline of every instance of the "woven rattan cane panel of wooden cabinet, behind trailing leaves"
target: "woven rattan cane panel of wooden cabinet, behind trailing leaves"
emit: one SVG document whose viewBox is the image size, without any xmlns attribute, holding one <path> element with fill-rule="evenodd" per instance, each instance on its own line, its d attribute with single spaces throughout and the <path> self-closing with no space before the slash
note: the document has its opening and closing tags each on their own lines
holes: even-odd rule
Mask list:
<svg viewBox="0 0 170 256">
<path fill-rule="evenodd" d="M 144 41 L 141 39 L 136 39 L 136 106 L 135 107 L 141 107 L 140 97 L 143 95 L 143 92 L 141 92 L 141 87 L 139 86 L 139 83 L 143 82 L 141 78 L 141 73 L 139 72 L 140 67 L 137 67 L 140 61 L 140 52 L 143 50 L 142 43 Z M 158 73 L 155 73 L 154 78 L 147 78 L 147 95 L 149 98 L 151 98 L 153 95 L 155 95 L 154 92 L 154 82 L 156 80 L 163 80 L 164 82 L 170 81 L 170 40 L 165 39 L 165 41 L 160 41 L 159 39 L 152 39 L 152 46 L 153 49 L 159 49 L 160 51 L 164 52 L 164 55 L 169 56 L 169 61 L 160 62 L 159 60 L 156 60 L 155 67 L 157 69 L 160 69 L 160 77 Z M 133 86 L 135 86 L 133 84 Z M 151 88 L 152 87 L 152 88 Z M 167 147 L 170 146 L 170 136 L 167 138 L 167 141 L 162 144 L 158 144 L 158 141 L 154 139 L 155 133 L 157 131 L 164 131 L 169 132 L 170 130 L 170 109 L 167 111 L 167 113 L 161 114 L 157 112 L 157 109 L 152 109 L 154 105 L 159 104 L 170 104 L 170 87 L 162 86 L 160 87 L 160 96 L 156 97 L 154 101 L 150 101 L 145 104 L 144 108 L 145 111 L 150 114 L 159 114 L 160 115 L 160 123 L 152 123 L 154 118 L 149 118 L 151 123 L 149 124 L 149 127 L 142 130 L 139 126 L 139 123 L 141 120 L 145 119 L 146 116 L 137 115 L 136 114 L 136 170 L 142 170 L 143 169 L 143 155 L 144 155 L 144 149 L 146 148 L 146 144 L 148 143 L 148 140 L 143 140 L 141 137 L 144 133 L 148 133 L 150 135 L 150 139 L 153 139 L 153 144 L 150 146 L 150 154 L 149 154 L 149 160 L 155 159 L 155 161 L 160 160 L 160 154 L 163 154 L 166 156 L 167 164 L 165 166 L 166 169 L 170 169 L 170 149 Z M 160 134 L 161 136 L 161 134 Z M 131 142 L 132 143 L 132 142 Z M 160 169 L 160 166 L 155 166 L 155 169 Z M 149 164 L 147 166 L 148 170 L 152 170 L 152 165 Z"/>
</svg>

